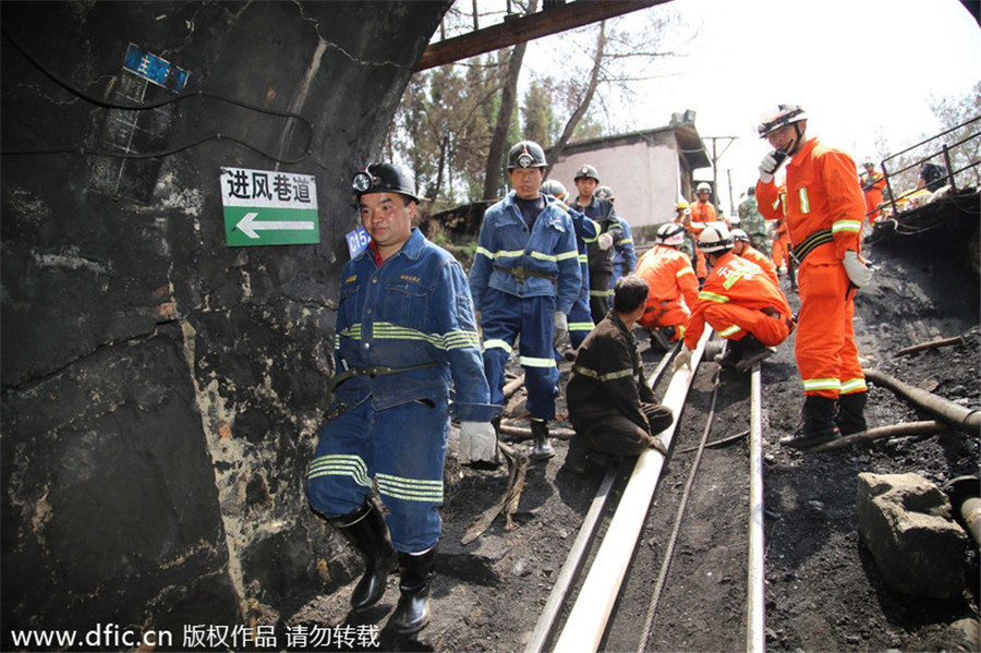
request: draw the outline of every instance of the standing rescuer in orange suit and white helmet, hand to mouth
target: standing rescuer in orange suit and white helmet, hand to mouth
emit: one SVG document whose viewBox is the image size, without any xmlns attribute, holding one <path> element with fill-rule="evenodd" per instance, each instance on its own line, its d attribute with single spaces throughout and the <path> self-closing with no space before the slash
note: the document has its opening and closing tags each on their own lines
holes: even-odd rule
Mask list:
<svg viewBox="0 0 981 653">
<path fill-rule="evenodd" d="M 809 447 L 865 430 L 865 376 L 858 360 L 855 291 L 872 270 L 860 256 L 865 202 L 848 155 L 804 136 L 807 114 L 779 105 L 761 120 L 760 136 L 775 149 L 760 164 L 756 197 L 777 199 L 773 181 L 787 160 L 784 204 L 797 258 L 801 309 L 796 339 L 803 380 L 803 423 L 785 444 Z"/>
</svg>

